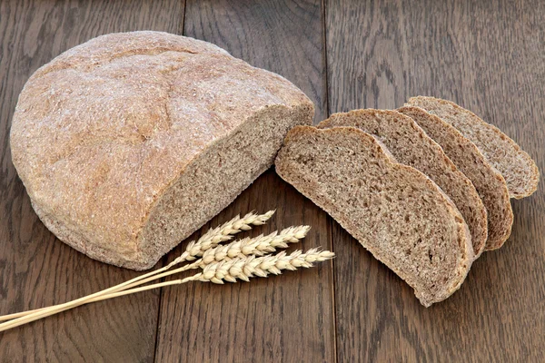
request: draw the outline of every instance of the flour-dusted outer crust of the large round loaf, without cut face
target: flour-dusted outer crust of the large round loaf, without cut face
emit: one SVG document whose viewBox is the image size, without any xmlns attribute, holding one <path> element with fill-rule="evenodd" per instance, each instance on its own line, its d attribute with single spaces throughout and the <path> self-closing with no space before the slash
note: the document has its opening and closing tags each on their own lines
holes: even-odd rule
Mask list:
<svg viewBox="0 0 545 363">
<path fill-rule="evenodd" d="M 292 83 L 213 44 L 107 34 L 59 55 L 25 84 L 10 135 L 13 162 L 44 221 L 77 231 L 82 237 L 71 240 L 113 260 L 134 260 L 165 189 L 271 106 L 312 111 Z"/>
</svg>

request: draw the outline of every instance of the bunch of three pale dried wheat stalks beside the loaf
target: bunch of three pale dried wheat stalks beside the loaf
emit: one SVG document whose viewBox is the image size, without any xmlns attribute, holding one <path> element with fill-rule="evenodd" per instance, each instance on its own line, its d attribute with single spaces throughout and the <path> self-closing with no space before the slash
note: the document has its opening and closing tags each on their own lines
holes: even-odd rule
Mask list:
<svg viewBox="0 0 545 363">
<path fill-rule="evenodd" d="M 290 243 L 296 243 L 304 238 L 310 230 L 309 226 L 289 227 L 280 232 L 274 231 L 268 235 L 262 234 L 254 238 L 222 244 L 233 240 L 233 236 L 240 231 L 249 231 L 253 226 L 263 225 L 272 217 L 273 213 L 274 211 L 268 211 L 265 214 L 251 212 L 242 218 L 236 216 L 233 220 L 207 231 L 199 240 L 190 242 L 180 256 L 163 268 L 145 273 L 119 285 L 64 304 L 2 316 L 0 321 L 8 321 L 0 324 L 0 331 L 12 329 L 90 302 L 112 299 L 148 289 L 178 285 L 189 281 L 210 281 L 217 284 L 223 284 L 224 281 L 249 281 L 254 277 L 279 275 L 282 270 L 311 268 L 314 262 L 331 260 L 334 257 L 333 252 L 320 249 L 311 249 L 306 252 L 296 250 L 291 254 L 284 251 L 272 254 L 276 250 L 285 249 Z M 182 266 L 173 269 L 176 265 Z M 201 271 L 193 276 L 144 285 L 166 276 L 197 269 Z"/>
</svg>

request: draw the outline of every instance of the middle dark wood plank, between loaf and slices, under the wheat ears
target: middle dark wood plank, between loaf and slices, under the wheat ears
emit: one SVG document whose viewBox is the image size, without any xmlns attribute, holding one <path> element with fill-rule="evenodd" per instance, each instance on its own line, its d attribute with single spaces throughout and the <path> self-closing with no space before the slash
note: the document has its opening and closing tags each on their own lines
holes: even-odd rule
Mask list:
<svg viewBox="0 0 545 363">
<path fill-rule="evenodd" d="M 184 34 L 284 75 L 312 97 L 319 119 L 325 114 L 319 1 L 188 1 Z M 272 221 L 254 233 L 310 224 L 312 231 L 299 248 L 330 248 L 331 225 L 325 213 L 273 170 L 265 172 L 207 228 L 239 212 L 271 209 L 277 209 Z M 173 250 L 169 260 L 184 245 Z M 165 288 L 156 360 L 333 361 L 332 304 L 331 263 L 251 283 Z"/>
</svg>

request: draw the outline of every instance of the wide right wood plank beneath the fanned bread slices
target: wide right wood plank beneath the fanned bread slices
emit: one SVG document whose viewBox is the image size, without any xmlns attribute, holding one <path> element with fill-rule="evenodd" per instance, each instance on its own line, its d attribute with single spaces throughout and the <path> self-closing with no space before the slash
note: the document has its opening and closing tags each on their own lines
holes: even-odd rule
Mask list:
<svg viewBox="0 0 545 363">
<path fill-rule="evenodd" d="M 538 0 L 328 1 L 330 109 L 451 99 L 498 125 L 543 171 L 543 14 Z M 541 183 L 513 201 L 510 240 L 429 309 L 335 223 L 338 361 L 545 361 L 544 197 Z"/>
</svg>

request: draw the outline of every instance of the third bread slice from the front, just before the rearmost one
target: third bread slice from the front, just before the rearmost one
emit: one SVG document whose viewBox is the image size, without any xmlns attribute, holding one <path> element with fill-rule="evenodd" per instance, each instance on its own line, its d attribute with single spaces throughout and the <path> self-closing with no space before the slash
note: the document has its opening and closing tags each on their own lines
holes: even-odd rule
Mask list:
<svg viewBox="0 0 545 363">
<path fill-rule="evenodd" d="M 441 145 L 458 169 L 470 178 L 488 211 L 488 240 L 485 250 L 500 248 L 509 238 L 513 223 L 509 191 L 500 172 L 486 161 L 473 142 L 439 117 L 413 106 L 401 107 L 398 111 L 411 116 Z"/>
</svg>

